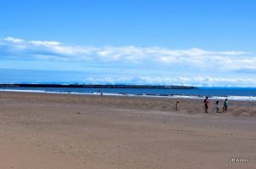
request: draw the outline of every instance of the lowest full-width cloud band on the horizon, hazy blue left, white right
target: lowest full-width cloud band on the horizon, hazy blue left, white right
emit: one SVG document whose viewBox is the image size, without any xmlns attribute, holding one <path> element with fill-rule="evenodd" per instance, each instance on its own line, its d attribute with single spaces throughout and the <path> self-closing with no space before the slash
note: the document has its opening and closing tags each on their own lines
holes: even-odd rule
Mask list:
<svg viewBox="0 0 256 169">
<path fill-rule="evenodd" d="M 81 84 L 137 84 L 185 85 L 197 87 L 256 87 L 253 78 L 222 78 L 212 76 L 91 76 L 83 72 L 52 70 L 3 70 L 2 83 L 81 83 Z"/>
</svg>

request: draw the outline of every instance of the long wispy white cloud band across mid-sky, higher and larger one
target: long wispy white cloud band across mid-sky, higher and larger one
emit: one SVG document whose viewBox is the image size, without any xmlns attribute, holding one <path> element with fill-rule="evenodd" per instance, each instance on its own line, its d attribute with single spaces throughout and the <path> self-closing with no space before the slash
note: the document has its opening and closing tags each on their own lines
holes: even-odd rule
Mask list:
<svg viewBox="0 0 256 169">
<path fill-rule="evenodd" d="M 5 59 L 117 62 L 126 65 L 183 65 L 209 70 L 256 70 L 256 57 L 244 51 L 208 51 L 201 48 L 82 47 L 55 41 L 26 41 L 15 37 L 0 39 Z M 1 57 L 0 55 L 0 57 Z M 0 58 L 1 59 L 1 58 Z"/>
</svg>

